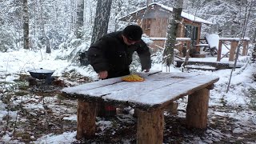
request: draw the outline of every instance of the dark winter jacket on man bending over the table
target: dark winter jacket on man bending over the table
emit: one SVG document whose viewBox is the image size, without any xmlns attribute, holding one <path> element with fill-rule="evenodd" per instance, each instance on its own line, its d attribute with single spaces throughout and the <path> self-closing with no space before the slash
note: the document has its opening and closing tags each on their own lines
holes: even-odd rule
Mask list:
<svg viewBox="0 0 256 144">
<path fill-rule="evenodd" d="M 130 74 L 130 63 L 134 51 L 138 53 L 142 70 L 151 68 L 150 50 L 141 40 L 127 46 L 122 39 L 122 31 L 106 34 L 92 44 L 88 50 L 90 65 L 98 73 L 108 71 L 107 78 L 115 78 Z"/>
</svg>

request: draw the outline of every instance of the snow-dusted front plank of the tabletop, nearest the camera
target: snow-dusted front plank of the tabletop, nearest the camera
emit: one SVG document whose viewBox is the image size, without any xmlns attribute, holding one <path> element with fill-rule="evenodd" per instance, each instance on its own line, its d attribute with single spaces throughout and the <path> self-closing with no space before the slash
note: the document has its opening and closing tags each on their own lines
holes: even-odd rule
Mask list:
<svg viewBox="0 0 256 144">
<path fill-rule="evenodd" d="M 218 77 L 198 75 L 192 78 L 180 78 L 180 81 L 165 82 L 166 85 L 164 86 L 154 87 L 156 85 L 153 85 L 154 90 L 144 90 L 143 93 L 137 93 L 136 89 L 129 89 L 106 94 L 103 98 L 106 101 L 127 101 L 134 107 L 154 107 L 162 105 L 165 102 L 174 101 L 184 95 L 192 94 L 194 91 L 200 90 L 217 81 Z"/>
</svg>

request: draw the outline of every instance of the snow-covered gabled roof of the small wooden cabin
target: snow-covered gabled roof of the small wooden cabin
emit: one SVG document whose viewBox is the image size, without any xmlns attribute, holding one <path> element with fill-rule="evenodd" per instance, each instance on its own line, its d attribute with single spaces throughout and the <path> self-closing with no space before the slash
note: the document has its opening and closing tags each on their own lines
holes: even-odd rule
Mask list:
<svg viewBox="0 0 256 144">
<path fill-rule="evenodd" d="M 164 10 L 164 11 L 167 11 L 167 12 L 172 12 L 173 11 L 173 8 L 172 7 L 169 7 L 169 6 L 164 6 L 162 4 L 159 4 L 157 2 L 153 2 L 153 3 L 150 3 L 150 5 L 148 5 L 148 7 L 150 7 L 150 9 L 154 9 L 155 6 L 158 6 L 161 10 Z M 147 6 L 144 6 L 142 7 L 141 9 L 139 10 L 136 10 L 122 18 L 119 18 L 119 20 L 121 21 L 128 21 L 131 17 L 133 17 L 134 15 L 137 15 L 139 14 L 140 12 L 142 12 L 143 10 L 146 10 L 146 7 Z M 185 13 L 182 11 L 182 18 L 186 18 L 192 22 L 200 22 L 200 23 L 205 23 L 205 24 L 213 24 L 212 22 L 209 22 L 209 21 L 206 21 L 202 18 L 198 18 L 196 16 L 194 16 L 193 14 L 188 14 L 188 13 Z"/>
</svg>

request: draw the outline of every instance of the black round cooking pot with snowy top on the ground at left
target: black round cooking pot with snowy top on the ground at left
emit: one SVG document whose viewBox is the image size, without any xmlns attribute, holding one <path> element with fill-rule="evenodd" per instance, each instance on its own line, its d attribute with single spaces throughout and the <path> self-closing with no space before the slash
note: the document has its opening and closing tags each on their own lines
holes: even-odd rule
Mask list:
<svg viewBox="0 0 256 144">
<path fill-rule="evenodd" d="M 54 70 L 46 70 L 46 69 L 33 69 L 33 70 L 28 70 L 30 75 L 33 78 L 38 78 L 38 79 L 46 79 L 50 78 L 52 74 L 54 74 Z"/>
</svg>

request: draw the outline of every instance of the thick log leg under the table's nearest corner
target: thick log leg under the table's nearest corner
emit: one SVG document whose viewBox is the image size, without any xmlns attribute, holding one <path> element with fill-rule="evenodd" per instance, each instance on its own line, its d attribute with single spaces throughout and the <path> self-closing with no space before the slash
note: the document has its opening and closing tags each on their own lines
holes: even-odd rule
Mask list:
<svg viewBox="0 0 256 144">
<path fill-rule="evenodd" d="M 151 113 L 138 110 L 137 144 L 162 144 L 163 128 L 163 110 Z"/>
</svg>

